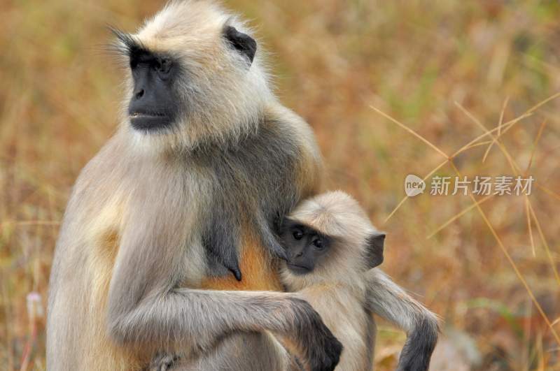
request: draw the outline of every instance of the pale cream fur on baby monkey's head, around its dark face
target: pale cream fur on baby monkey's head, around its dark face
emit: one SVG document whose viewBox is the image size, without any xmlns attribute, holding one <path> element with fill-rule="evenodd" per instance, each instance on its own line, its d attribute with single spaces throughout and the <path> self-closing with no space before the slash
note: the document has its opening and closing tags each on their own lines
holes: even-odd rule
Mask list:
<svg viewBox="0 0 560 371">
<path fill-rule="evenodd" d="M 283 264 L 283 282 L 290 291 L 320 283 L 358 284 L 363 272 L 383 261 L 385 234 L 377 231 L 358 202 L 342 191 L 302 201 L 288 221 L 313 229 L 331 245 L 311 274 L 294 275 Z"/>
</svg>

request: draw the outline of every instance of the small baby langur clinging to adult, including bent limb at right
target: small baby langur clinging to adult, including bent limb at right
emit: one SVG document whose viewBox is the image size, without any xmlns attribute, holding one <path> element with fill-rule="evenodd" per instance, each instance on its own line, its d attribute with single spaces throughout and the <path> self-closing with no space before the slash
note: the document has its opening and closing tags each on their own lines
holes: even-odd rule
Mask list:
<svg viewBox="0 0 560 371">
<path fill-rule="evenodd" d="M 342 342 L 338 370 L 372 370 L 372 312 L 407 331 L 398 370 L 428 370 L 437 317 L 384 275 L 385 234 L 342 191 L 302 201 L 279 232 L 286 261 L 281 281 L 297 291 Z"/>
</svg>

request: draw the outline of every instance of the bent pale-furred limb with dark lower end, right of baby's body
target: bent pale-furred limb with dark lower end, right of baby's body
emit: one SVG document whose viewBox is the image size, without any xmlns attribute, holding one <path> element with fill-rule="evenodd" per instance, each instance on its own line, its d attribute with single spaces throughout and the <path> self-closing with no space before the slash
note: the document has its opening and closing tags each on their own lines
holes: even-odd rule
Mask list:
<svg viewBox="0 0 560 371">
<path fill-rule="evenodd" d="M 407 333 L 397 370 L 428 370 L 439 333 L 437 316 L 411 298 L 379 268 L 368 270 L 365 282 L 367 310 Z"/>
</svg>

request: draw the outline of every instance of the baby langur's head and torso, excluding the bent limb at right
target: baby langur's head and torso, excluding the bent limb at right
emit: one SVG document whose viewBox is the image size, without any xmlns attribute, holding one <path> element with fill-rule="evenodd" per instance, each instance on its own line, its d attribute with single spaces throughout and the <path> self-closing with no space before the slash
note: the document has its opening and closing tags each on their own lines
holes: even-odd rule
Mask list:
<svg viewBox="0 0 560 371">
<path fill-rule="evenodd" d="M 383 261 L 384 238 L 341 191 L 303 201 L 281 228 L 281 281 L 302 294 L 342 342 L 339 370 L 372 367 L 375 323 L 364 306 L 363 274 Z"/>
</svg>

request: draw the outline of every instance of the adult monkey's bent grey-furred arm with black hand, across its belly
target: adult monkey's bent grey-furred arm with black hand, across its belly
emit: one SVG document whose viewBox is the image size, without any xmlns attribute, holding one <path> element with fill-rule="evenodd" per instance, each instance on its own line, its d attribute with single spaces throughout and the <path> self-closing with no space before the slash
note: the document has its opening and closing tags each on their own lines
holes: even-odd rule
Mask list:
<svg viewBox="0 0 560 371">
<path fill-rule="evenodd" d="M 173 224 L 163 228 L 181 228 Z M 177 288 L 185 269 L 183 246 L 170 237 L 177 233 L 145 227 L 125 230 L 121 239 L 107 312 L 113 340 L 204 353 L 231 333 L 270 330 L 288 337 L 311 370 L 334 369 L 342 345 L 309 303 L 293 293 Z"/>
</svg>

